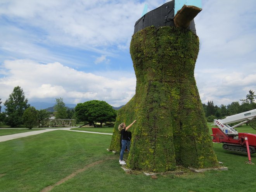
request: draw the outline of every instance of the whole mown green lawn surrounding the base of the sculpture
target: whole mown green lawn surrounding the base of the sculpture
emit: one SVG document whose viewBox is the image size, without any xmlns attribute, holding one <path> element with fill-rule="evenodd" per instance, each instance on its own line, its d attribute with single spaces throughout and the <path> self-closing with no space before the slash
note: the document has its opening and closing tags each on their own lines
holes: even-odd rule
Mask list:
<svg viewBox="0 0 256 192">
<path fill-rule="evenodd" d="M 228 171 L 185 170 L 184 175 L 157 175 L 154 180 L 141 173 L 126 174 L 118 163 L 119 154 L 107 152 L 110 142 L 111 135 L 64 130 L 0 142 L 0 191 L 39 192 L 60 181 L 51 192 L 254 192 L 256 189 L 256 165 L 245 163 L 246 154 L 223 150 L 222 144 L 213 146 Z M 251 158 L 256 163 L 256 154 Z"/>
</svg>

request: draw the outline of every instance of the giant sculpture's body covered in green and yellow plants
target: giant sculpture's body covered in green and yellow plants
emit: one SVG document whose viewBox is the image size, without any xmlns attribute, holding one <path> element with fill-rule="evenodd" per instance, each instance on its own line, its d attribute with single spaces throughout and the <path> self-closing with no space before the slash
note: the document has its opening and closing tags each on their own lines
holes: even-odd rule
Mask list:
<svg viewBox="0 0 256 192">
<path fill-rule="evenodd" d="M 109 147 L 120 151 L 118 125 L 136 119 L 128 168 L 159 172 L 176 165 L 217 166 L 194 78 L 198 52 L 199 39 L 190 30 L 152 26 L 133 35 L 136 93 L 119 109 Z"/>
</svg>

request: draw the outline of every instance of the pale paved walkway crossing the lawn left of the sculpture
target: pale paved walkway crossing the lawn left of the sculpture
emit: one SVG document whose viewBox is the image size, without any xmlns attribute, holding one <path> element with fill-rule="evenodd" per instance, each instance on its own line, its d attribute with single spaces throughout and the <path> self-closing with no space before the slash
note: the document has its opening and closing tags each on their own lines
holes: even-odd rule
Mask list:
<svg viewBox="0 0 256 192">
<path fill-rule="evenodd" d="M 38 130 L 38 131 L 28 131 L 28 132 L 24 132 L 24 133 L 16 133 L 16 134 L 12 134 L 12 135 L 3 135 L 0 136 L 0 142 L 3 141 L 8 141 L 8 140 L 12 140 L 12 139 L 16 139 L 16 138 L 21 138 L 21 137 L 27 137 L 30 135 L 37 135 L 40 133 L 46 133 L 49 131 L 56 131 L 56 130 L 65 130 L 65 131 L 76 131 L 76 132 L 83 132 L 83 133 L 95 133 L 95 134 L 102 134 L 102 135 L 112 135 L 112 133 L 99 133 L 99 132 L 92 132 L 92 131 L 77 131 L 77 130 L 71 130 L 71 128 L 78 128 L 78 127 L 69 127 L 69 128 L 57 128 L 57 129 L 43 129 L 43 130 Z M 4 128 L 1 128 L 4 129 Z M 8 128 L 10 129 L 10 128 Z"/>
</svg>

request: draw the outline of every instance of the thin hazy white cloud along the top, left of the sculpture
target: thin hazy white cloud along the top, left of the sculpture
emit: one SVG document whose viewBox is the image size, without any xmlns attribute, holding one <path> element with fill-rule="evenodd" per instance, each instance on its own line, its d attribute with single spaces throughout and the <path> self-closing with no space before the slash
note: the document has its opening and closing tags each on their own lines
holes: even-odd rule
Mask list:
<svg viewBox="0 0 256 192">
<path fill-rule="evenodd" d="M 0 14 L 43 29 L 46 41 L 89 48 L 126 43 L 143 7 L 132 1 L 11 0 Z"/>
</svg>

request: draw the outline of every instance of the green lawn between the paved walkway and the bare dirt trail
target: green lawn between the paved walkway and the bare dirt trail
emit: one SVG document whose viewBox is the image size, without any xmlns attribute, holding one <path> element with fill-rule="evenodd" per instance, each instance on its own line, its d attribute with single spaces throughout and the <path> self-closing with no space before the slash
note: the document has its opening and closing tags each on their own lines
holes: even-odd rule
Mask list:
<svg viewBox="0 0 256 192">
<path fill-rule="evenodd" d="M 0 143 L 0 191 L 40 191 L 74 171 L 113 155 L 111 135 L 51 131 Z M 116 156 L 116 158 L 118 158 Z"/>
</svg>

